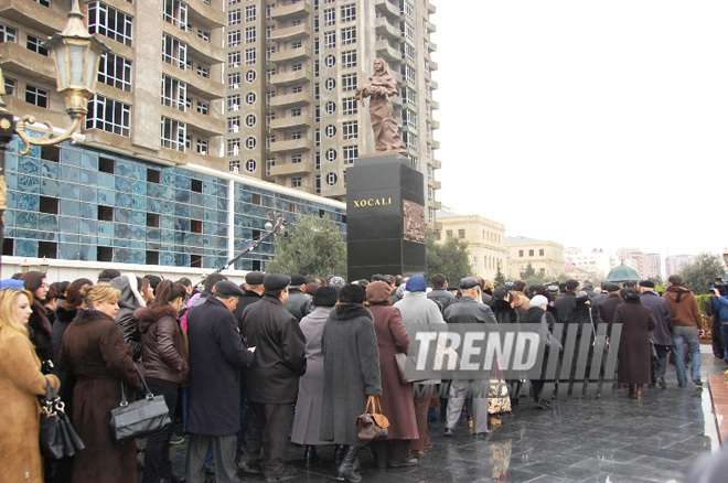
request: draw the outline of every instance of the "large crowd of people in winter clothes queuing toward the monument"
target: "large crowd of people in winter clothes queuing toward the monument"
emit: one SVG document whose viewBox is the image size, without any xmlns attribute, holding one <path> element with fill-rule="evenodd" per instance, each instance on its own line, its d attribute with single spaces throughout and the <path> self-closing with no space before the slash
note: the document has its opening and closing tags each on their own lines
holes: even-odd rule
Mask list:
<svg viewBox="0 0 728 483">
<path fill-rule="evenodd" d="M 678 386 L 688 383 L 688 364 L 692 383 L 703 385 L 702 315 L 677 276 L 663 294 L 650 280 L 595 290 L 589 280 L 494 287 L 465 277 L 451 289 L 440 273 L 429 283 L 421 275 L 346 283 L 336 276 L 254 271 L 238 286 L 216 272 L 195 287 L 186 278 L 117 270 L 101 271 L 96 282 L 49 283 L 45 273 L 31 271 L 1 283 L 0 482 L 135 482 L 141 444 L 115 443 L 109 419 L 122 390 L 132 398 L 143 393 L 140 374 L 183 428 L 182 434 L 172 426 L 148 434 L 143 482 L 202 483 L 207 472 L 218 483 L 236 482 L 238 470 L 267 482 L 288 480 L 296 475 L 285 464 L 289 442 L 304 448 L 308 464 L 333 444 L 335 477 L 358 481 L 367 441 L 354 421 L 370 396 L 379 398 L 390 421 L 387 438 L 368 443 L 378 469 L 418 464 L 432 448 L 432 408 L 440 408 L 445 437 L 453 436 L 463 412 L 471 432 L 486 437 L 488 379 L 404 379 L 397 355 L 408 354 L 414 324 L 542 324 L 548 351 L 561 347 L 549 339 L 556 323 L 590 332 L 590 351 L 599 324 L 608 328 L 604 343 L 620 324 L 617 382 L 628 397 L 641 399 L 645 385 L 667 387 L 670 353 Z M 716 291 L 711 303 L 728 326 L 728 294 Z M 725 356 L 728 362 L 728 351 Z M 543 380 L 524 383 L 508 380 L 513 407 L 527 395 L 548 410 Z M 41 457 L 38 396 L 46 384 L 58 390 L 85 443 L 74 458 Z M 447 398 L 438 397 L 440 385 L 449 387 Z M 175 475 L 170 444 L 185 439 L 186 474 Z"/>
</svg>

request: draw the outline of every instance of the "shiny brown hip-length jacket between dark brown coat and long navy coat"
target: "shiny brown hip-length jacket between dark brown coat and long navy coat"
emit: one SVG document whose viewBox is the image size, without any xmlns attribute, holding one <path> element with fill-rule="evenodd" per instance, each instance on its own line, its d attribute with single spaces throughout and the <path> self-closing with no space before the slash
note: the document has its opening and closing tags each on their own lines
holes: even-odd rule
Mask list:
<svg viewBox="0 0 728 483">
<path fill-rule="evenodd" d="M 144 378 L 186 386 L 190 358 L 186 337 L 176 314 L 176 310 L 168 304 L 161 308 L 141 307 L 133 312 L 133 318 L 139 321 L 141 332 Z"/>
</svg>

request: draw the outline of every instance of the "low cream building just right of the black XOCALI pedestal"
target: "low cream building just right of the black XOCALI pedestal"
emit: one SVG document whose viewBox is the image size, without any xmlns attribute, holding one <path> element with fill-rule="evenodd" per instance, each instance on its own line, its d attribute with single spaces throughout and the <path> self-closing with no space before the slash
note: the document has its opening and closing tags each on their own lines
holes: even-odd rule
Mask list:
<svg viewBox="0 0 728 483">
<path fill-rule="evenodd" d="M 438 212 L 435 238 L 439 243 L 457 238 L 468 242 L 468 254 L 474 275 L 493 280 L 499 266 L 505 275 L 507 250 L 505 226 L 478 215 Z M 452 285 L 452 281 L 450 281 Z"/>
</svg>

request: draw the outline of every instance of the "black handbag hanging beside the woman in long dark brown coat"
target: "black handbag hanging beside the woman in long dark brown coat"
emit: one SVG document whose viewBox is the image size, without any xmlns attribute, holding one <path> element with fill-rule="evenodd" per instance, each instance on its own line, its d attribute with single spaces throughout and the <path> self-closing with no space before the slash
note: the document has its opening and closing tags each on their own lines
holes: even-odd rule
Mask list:
<svg viewBox="0 0 728 483">
<path fill-rule="evenodd" d="M 143 438 L 150 432 L 164 429 L 172 423 L 164 396 L 154 396 L 139 367 L 135 365 L 139 378 L 147 390 L 143 399 L 135 402 L 127 400 L 126 385 L 121 383 L 121 402 L 111 409 L 111 439 L 121 443 L 135 438 Z"/>
</svg>

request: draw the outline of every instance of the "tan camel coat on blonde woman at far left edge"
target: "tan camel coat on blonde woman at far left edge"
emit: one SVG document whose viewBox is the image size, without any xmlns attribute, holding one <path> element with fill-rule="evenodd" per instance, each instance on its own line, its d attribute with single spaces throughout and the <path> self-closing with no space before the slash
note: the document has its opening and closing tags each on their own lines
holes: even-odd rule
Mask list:
<svg viewBox="0 0 728 483">
<path fill-rule="evenodd" d="M 38 443 L 45 382 L 57 390 L 58 378 L 41 374 L 41 361 L 26 335 L 0 329 L 0 483 L 43 481 Z"/>
</svg>

